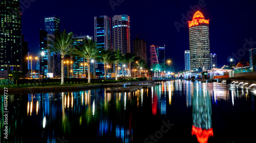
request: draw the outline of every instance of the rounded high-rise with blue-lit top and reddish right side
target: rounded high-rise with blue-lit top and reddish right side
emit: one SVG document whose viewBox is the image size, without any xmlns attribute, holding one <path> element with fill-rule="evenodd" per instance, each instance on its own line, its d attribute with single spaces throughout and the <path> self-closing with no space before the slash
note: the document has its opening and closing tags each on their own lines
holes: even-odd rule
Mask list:
<svg viewBox="0 0 256 143">
<path fill-rule="evenodd" d="M 130 39 L 130 16 L 126 14 L 114 15 L 112 18 L 113 28 L 113 48 L 120 50 L 120 53 L 131 52 L 131 39 Z M 118 64 L 118 76 L 124 75 L 127 65 L 123 63 Z M 123 72 L 124 71 L 124 72 Z M 116 72 L 116 71 L 114 71 Z M 127 75 L 127 74 L 126 74 Z"/>
</svg>

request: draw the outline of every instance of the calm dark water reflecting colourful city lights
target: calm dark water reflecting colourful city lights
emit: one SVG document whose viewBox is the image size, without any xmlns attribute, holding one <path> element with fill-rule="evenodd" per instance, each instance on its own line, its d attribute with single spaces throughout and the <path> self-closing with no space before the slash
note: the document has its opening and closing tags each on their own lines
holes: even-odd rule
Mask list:
<svg viewBox="0 0 256 143">
<path fill-rule="evenodd" d="M 10 95 L 8 139 L 2 116 L 1 142 L 255 140 L 256 91 L 184 80 L 131 93 L 105 90 Z"/>
</svg>

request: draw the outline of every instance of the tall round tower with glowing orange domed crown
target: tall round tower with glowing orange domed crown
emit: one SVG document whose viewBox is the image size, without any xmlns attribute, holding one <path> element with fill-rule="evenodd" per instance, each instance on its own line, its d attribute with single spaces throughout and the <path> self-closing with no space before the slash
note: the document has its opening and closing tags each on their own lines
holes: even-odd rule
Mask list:
<svg viewBox="0 0 256 143">
<path fill-rule="evenodd" d="M 209 19 L 197 11 L 188 21 L 190 69 L 210 69 Z"/>
</svg>

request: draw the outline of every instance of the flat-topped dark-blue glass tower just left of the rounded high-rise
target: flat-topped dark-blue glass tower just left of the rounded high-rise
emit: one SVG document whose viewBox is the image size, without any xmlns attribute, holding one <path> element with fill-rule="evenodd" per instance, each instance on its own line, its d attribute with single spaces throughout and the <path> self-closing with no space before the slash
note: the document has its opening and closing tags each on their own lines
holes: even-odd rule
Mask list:
<svg viewBox="0 0 256 143">
<path fill-rule="evenodd" d="M 112 27 L 111 18 L 106 15 L 94 17 L 94 40 L 97 48 L 112 49 Z M 96 76 L 104 76 L 104 65 L 96 61 Z"/>
</svg>

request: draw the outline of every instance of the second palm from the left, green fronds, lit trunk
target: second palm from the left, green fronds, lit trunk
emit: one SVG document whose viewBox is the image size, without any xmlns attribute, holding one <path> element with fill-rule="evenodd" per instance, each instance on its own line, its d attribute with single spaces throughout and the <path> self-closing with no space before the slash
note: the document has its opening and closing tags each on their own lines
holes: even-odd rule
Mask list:
<svg viewBox="0 0 256 143">
<path fill-rule="evenodd" d="M 93 40 L 83 40 L 83 44 L 79 47 L 79 50 L 75 52 L 82 58 L 87 60 L 87 69 L 88 69 L 88 83 L 91 83 L 91 65 L 90 61 L 93 58 L 96 58 L 98 49 L 97 49 L 97 43 Z"/>
</svg>

